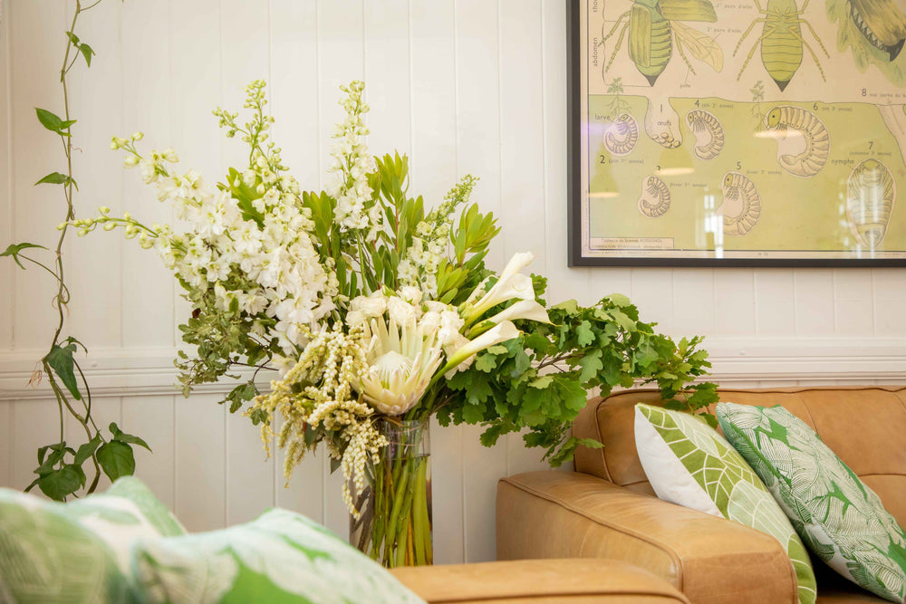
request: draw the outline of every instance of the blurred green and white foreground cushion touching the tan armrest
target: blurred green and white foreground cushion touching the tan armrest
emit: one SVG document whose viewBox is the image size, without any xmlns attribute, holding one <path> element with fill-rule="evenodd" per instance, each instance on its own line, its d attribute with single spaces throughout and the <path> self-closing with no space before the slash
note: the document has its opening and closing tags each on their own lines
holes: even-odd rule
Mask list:
<svg viewBox="0 0 906 604">
<path fill-rule="evenodd" d="M 304 516 L 255 521 L 133 550 L 142 599 L 156 602 L 422 602 L 371 558 Z"/>
</svg>

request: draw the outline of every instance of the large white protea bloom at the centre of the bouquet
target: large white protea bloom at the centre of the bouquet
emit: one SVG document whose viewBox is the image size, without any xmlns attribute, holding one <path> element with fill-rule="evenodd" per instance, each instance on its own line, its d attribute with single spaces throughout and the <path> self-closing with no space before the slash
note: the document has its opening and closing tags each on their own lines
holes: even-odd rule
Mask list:
<svg viewBox="0 0 906 604">
<path fill-rule="evenodd" d="M 421 400 L 440 367 L 443 350 L 435 331 L 421 330 L 414 322 L 372 320 L 370 332 L 365 355 L 369 369 L 358 389 L 381 413 L 399 416 Z"/>
</svg>

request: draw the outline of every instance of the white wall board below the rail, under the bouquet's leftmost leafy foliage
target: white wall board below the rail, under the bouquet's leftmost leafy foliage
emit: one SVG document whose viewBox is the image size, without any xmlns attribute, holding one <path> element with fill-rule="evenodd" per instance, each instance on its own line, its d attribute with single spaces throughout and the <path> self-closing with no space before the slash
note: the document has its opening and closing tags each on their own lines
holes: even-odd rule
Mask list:
<svg viewBox="0 0 906 604">
<path fill-rule="evenodd" d="M 224 420 L 218 395 L 176 401 L 174 412 L 174 511 L 190 532 L 226 524 Z"/>
</svg>

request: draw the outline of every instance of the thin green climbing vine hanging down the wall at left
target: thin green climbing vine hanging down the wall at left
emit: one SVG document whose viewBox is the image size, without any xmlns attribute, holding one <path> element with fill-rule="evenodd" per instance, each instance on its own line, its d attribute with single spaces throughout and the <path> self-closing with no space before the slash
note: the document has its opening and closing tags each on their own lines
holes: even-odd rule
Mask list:
<svg viewBox="0 0 906 604">
<path fill-rule="evenodd" d="M 92 416 L 92 391 L 76 359 L 76 353 L 80 348 L 86 353 L 88 350 L 72 335 L 66 334 L 64 337 L 70 291 L 63 274 L 63 242 L 71 228 L 68 223 L 75 218 L 72 198 L 74 192 L 79 190 L 75 178 L 72 177 L 72 151 L 75 149 L 72 145 L 72 126 L 76 120 L 72 119 L 69 109 L 69 74 L 78 63 L 84 62 L 86 68 L 92 66 L 94 50 L 89 44 L 82 42 L 75 33 L 76 24 L 82 14 L 100 5 L 102 1 L 95 0 L 92 4 L 83 6 L 82 0 L 75 0 L 72 24 L 65 33 L 66 52 L 63 55 L 63 67 L 60 69 L 63 116 L 51 110 L 35 108 L 37 119 L 44 129 L 59 137 L 63 143 L 63 153 L 66 157 L 63 171 L 51 172 L 34 183 L 35 186 L 52 185 L 63 189 L 66 202 L 65 216 L 63 224 L 58 227 L 60 235 L 56 246 L 49 249 L 39 244 L 10 244 L 5 252 L 0 254 L 9 256 L 23 270 L 26 264 L 29 264 L 51 275 L 56 288 L 52 301 L 56 315 L 53 339 L 47 353 L 41 359 L 41 369 L 35 371 L 31 383 L 38 383 L 46 376 L 59 407 L 60 438 L 38 448 L 38 466 L 34 469 L 37 477 L 25 491 L 37 486 L 43 494 L 58 501 L 64 501 L 72 495 L 77 496 L 82 489 L 84 494 L 93 493 L 101 479 L 101 472 L 108 475 L 111 480 L 116 480 L 122 475 L 131 475 L 135 471 L 132 446 L 144 446 L 150 450 L 144 440 L 122 432 L 115 423 L 107 427 L 106 436 L 101 427 L 97 426 L 95 417 Z M 42 254 L 41 250 L 50 256 L 49 262 L 42 262 L 33 257 L 34 254 Z M 78 445 L 72 442 L 72 439 L 80 436 L 81 430 L 79 435 L 70 435 L 71 442 L 65 440 L 63 426 L 67 414 L 74 417 L 84 431 L 84 439 L 79 439 Z M 90 483 L 84 469 L 86 464 L 89 473 L 93 473 Z"/>
</svg>

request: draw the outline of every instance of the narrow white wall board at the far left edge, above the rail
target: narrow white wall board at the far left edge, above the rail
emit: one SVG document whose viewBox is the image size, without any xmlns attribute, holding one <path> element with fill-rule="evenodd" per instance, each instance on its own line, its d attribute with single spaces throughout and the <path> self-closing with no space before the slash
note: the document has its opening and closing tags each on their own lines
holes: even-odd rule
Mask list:
<svg viewBox="0 0 906 604">
<path fill-rule="evenodd" d="M 8 4 L 8 3 L 7 3 Z M 0 15 L 0 247 L 14 243 L 13 205 L 13 111 L 10 76 L 13 65 L 10 41 L 10 11 Z M 13 271 L 18 270 L 9 258 L 0 262 L 0 350 L 13 348 Z"/>
</svg>

